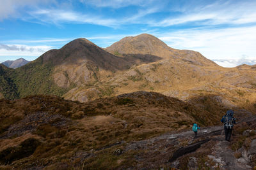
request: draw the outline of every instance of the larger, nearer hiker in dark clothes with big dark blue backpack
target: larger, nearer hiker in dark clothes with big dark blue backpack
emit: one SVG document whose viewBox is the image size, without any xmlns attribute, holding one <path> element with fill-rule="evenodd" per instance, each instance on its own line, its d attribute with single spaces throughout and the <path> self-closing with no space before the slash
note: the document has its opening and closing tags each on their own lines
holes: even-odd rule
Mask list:
<svg viewBox="0 0 256 170">
<path fill-rule="evenodd" d="M 236 118 L 233 117 L 234 111 L 228 110 L 226 115 L 221 118 L 221 122 L 224 124 L 225 140 L 230 141 L 232 129 L 236 124 Z"/>
</svg>

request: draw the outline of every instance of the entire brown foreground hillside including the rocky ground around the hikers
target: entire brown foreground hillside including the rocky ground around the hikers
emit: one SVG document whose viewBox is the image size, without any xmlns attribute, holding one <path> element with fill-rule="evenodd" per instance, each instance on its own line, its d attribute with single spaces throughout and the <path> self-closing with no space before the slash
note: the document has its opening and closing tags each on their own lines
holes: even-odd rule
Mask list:
<svg viewBox="0 0 256 170">
<path fill-rule="evenodd" d="M 218 138 L 223 138 L 220 136 L 222 127 L 208 126 L 220 125 L 220 118 L 227 108 L 214 100 L 198 98 L 195 101 L 199 101 L 199 105 L 203 102 L 204 108 L 144 91 L 87 103 L 42 95 L 15 101 L 1 99 L 0 168 L 156 169 L 215 166 L 212 163 L 215 160 L 207 155 L 220 157 L 214 148 L 218 149 Z M 211 107 L 214 112 L 207 111 Z M 242 120 L 240 116 L 252 116 L 246 110 L 234 110 L 239 121 Z M 193 139 L 190 130 L 193 123 L 199 124 L 202 129 L 198 140 Z M 246 140 L 252 142 L 255 133 L 245 136 L 244 131 L 255 127 L 255 122 L 250 121 L 237 125 L 237 137 L 233 137 L 234 141 L 230 144 L 234 150 L 232 154 L 242 146 L 250 145 L 250 141 L 247 144 Z M 189 131 L 184 131 L 186 129 Z M 190 147 L 191 150 L 191 143 L 195 147 L 196 143 L 206 144 L 193 153 L 179 153 L 179 148 Z M 191 157 L 197 161 L 193 165 L 187 161 Z M 173 163 L 177 158 L 180 162 Z M 208 164 L 202 163 L 203 159 Z"/>
</svg>

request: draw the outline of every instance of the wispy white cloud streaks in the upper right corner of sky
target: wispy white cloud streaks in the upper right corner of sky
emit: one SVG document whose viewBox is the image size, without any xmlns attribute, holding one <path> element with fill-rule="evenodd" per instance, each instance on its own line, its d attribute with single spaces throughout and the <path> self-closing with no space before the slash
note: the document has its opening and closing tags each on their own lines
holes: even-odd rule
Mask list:
<svg viewBox="0 0 256 170">
<path fill-rule="evenodd" d="M 256 1 L 216 1 L 205 6 L 185 4 L 179 15 L 171 15 L 163 20 L 151 20 L 152 26 L 168 27 L 179 24 L 220 25 L 248 24 L 256 22 Z"/>
</svg>

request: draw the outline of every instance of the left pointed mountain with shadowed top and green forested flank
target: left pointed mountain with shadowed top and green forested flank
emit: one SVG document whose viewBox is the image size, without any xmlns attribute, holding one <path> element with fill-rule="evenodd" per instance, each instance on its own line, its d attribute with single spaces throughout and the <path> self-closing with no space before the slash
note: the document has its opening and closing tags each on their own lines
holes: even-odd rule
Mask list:
<svg viewBox="0 0 256 170">
<path fill-rule="evenodd" d="M 45 52 L 38 59 L 15 69 L 12 78 L 20 97 L 29 94 L 62 96 L 72 87 L 97 81 L 107 73 L 129 67 L 120 57 L 105 52 L 87 39 L 75 39 L 60 50 Z"/>
</svg>

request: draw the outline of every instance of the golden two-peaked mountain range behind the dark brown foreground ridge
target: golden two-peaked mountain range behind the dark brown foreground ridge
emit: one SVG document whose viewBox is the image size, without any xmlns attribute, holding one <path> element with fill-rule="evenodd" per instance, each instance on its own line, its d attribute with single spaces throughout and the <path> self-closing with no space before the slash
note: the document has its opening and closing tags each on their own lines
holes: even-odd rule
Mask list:
<svg viewBox="0 0 256 170">
<path fill-rule="evenodd" d="M 87 39 L 75 39 L 11 71 L 8 78 L 17 89 L 12 99 L 52 94 L 86 102 L 144 90 L 184 101 L 214 95 L 229 107 L 253 111 L 255 73 L 255 66 L 220 67 L 198 52 L 177 50 L 141 34 L 105 50 Z"/>
</svg>

